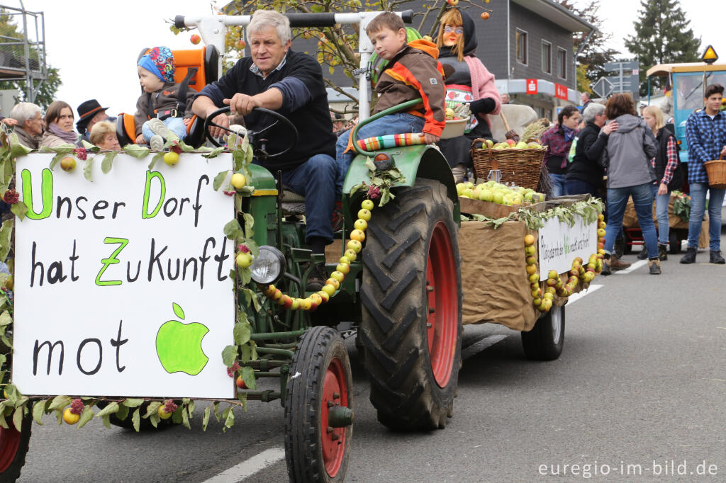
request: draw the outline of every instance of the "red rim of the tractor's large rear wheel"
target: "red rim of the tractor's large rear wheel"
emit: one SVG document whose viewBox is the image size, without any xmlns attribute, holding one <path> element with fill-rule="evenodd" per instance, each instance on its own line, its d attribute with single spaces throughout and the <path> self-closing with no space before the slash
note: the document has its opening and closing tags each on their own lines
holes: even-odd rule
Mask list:
<svg viewBox="0 0 726 483">
<path fill-rule="evenodd" d="M 431 371 L 439 387 L 446 387 L 454 365 L 457 344 L 458 294 L 456 260 L 449 230 L 439 221 L 433 227 L 426 261 L 426 291 L 428 295 L 428 354 Z"/>
</svg>

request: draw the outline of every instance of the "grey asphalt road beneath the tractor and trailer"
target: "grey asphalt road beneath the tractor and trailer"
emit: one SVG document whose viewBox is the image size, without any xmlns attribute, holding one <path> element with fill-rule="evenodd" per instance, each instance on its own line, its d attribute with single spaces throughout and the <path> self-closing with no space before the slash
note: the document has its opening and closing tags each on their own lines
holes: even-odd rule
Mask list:
<svg viewBox="0 0 726 483">
<path fill-rule="evenodd" d="M 641 266 L 595 278 L 600 288 L 567 307 L 558 360 L 526 360 L 509 329 L 467 328 L 466 345 L 501 340 L 468 352 L 444 430 L 396 434 L 378 424 L 354 362 L 346 480 L 726 481 L 726 265 L 705 263 L 703 251 L 696 265 L 679 257 L 661 276 Z M 216 423 L 202 432 L 201 413 L 192 430 L 142 434 L 46 418 L 33 425 L 20 481 L 287 481 L 278 403 L 250 402 L 227 434 Z M 265 456 L 272 463 L 256 471 Z"/>
</svg>

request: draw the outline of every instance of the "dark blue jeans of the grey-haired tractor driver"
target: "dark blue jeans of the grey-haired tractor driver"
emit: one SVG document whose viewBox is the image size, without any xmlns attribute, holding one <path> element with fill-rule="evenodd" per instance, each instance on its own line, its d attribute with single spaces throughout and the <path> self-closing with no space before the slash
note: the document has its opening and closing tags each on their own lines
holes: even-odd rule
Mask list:
<svg viewBox="0 0 726 483">
<path fill-rule="evenodd" d="M 282 184 L 305 197 L 306 241 L 311 236 L 333 241 L 335 173 L 335 160 L 327 154 L 315 154 L 297 168 L 282 171 Z"/>
</svg>

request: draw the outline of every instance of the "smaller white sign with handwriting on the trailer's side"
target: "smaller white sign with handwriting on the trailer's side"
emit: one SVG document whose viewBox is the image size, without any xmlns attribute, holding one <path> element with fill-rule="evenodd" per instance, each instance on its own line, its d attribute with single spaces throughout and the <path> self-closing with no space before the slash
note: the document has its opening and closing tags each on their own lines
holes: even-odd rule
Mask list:
<svg viewBox="0 0 726 483">
<path fill-rule="evenodd" d="M 547 280 L 550 270 L 571 271 L 576 257 L 587 263 L 593 253 L 597 253 L 597 220 L 584 223 L 582 217 L 575 215 L 574 226 L 569 226 L 558 218 L 550 218 L 539 228 L 540 280 Z"/>
</svg>

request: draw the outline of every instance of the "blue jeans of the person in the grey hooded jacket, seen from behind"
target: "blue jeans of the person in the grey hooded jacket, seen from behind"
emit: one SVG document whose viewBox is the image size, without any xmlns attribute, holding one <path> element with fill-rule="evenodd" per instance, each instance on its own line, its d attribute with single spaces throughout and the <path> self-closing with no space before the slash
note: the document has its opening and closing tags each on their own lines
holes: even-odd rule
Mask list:
<svg viewBox="0 0 726 483">
<path fill-rule="evenodd" d="M 658 258 L 658 239 L 656 223 L 653 223 L 653 188 L 651 183 L 608 188 L 608 228 L 605 233 L 605 252 L 612 253 L 615 238 L 623 227 L 623 215 L 628 198 L 632 197 L 635 205 L 637 222 L 645 239 L 645 249 L 650 259 Z"/>
</svg>

